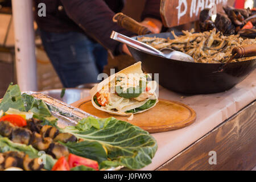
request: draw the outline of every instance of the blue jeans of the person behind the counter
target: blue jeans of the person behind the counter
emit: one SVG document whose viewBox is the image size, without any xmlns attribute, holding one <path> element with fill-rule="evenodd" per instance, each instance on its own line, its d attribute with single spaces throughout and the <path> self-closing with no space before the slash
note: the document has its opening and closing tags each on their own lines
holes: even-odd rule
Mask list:
<svg viewBox="0 0 256 182">
<path fill-rule="evenodd" d="M 44 49 L 65 88 L 98 82 L 108 63 L 108 52 L 80 32 L 55 33 L 40 30 Z"/>
</svg>

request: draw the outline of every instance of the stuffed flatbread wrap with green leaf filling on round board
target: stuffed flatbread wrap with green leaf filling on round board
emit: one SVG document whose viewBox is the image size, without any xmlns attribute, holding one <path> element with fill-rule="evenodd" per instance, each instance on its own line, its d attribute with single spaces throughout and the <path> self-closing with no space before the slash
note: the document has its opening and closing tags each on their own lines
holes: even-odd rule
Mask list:
<svg viewBox="0 0 256 182">
<path fill-rule="evenodd" d="M 130 67 L 127 67 L 123 69 L 122 71 L 119 71 L 118 73 L 115 73 L 108 78 L 106 78 L 104 81 L 100 82 L 96 86 L 94 86 L 90 90 L 90 95 L 92 96 L 92 104 L 96 109 L 108 112 L 110 114 L 115 114 L 115 115 L 131 115 L 131 114 L 137 114 L 137 113 L 142 113 L 148 109 L 151 109 L 156 105 L 158 102 L 158 98 L 155 93 L 156 89 L 156 82 L 155 81 L 148 81 L 147 86 L 150 86 L 150 90 L 146 93 L 142 92 L 139 94 L 141 96 L 146 96 L 148 98 L 144 99 L 143 101 L 138 101 L 139 96 L 135 98 L 123 98 L 120 97 L 119 94 L 115 93 L 115 77 L 120 76 L 120 75 L 135 75 L 135 77 L 142 75 L 143 72 L 141 69 L 141 62 L 135 63 L 131 65 Z M 137 77 L 139 78 L 139 77 Z M 146 79 L 146 78 L 145 78 Z M 109 86 L 111 89 L 109 89 Z M 127 86 L 128 87 L 128 86 Z M 105 106 L 99 106 L 95 102 L 95 98 L 102 98 L 99 96 L 99 93 L 102 93 L 102 90 L 105 88 L 108 88 L 105 92 L 108 92 L 108 103 Z M 130 87 L 129 87 L 130 88 Z M 122 89 L 122 87 L 121 87 Z M 109 90 L 110 93 L 109 93 Z M 127 92 L 127 91 L 126 91 Z M 129 91 L 128 91 L 129 92 Z M 97 96 L 96 96 L 97 94 Z M 142 97 L 142 96 L 141 96 Z M 104 98 L 103 98 L 104 100 Z M 139 108 L 138 108 L 139 107 Z M 127 113 L 126 113 L 127 112 Z"/>
</svg>

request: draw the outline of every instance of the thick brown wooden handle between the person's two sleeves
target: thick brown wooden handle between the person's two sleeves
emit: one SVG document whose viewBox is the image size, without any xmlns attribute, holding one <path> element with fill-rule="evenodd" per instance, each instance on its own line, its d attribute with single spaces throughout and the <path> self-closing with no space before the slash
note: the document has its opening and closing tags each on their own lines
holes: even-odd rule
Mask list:
<svg viewBox="0 0 256 182">
<path fill-rule="evenodd" d="M 115 14 L 113 16 L 113 22 L 117 22 L 119 26 L 138 35 L 151 34 L 151 31 L 147 27 L 142 26 L 134 19 L 122 13 Z"/>
</svg>

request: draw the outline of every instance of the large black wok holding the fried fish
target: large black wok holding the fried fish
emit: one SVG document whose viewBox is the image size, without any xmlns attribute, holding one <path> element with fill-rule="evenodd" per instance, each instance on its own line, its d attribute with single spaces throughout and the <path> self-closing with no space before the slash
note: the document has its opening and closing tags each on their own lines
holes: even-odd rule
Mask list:
<svg viewBox="0 0 256 182">
<path fill-rule="evenodd" d="M 141 36 L 174 39 L 171 32 Z M 137 39 L 137 36 L 133 39 Z M 159 73 L 160 85 L 180 93 L 224 92 L 244 80 L 256 67 L 256 59 L 253 59 L 226 64 L 222 72 L 216 72 L 223 63 L 189 63 L 151 55 L 129 46 L 128 48 L 136 61 L 142 61 L 143 71 Z"/>
</svg>

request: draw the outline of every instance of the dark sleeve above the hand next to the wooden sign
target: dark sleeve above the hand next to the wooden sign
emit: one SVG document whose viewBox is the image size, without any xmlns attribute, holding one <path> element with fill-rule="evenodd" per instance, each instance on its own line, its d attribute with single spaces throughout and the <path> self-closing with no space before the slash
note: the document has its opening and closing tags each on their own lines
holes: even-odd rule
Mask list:
<svg viewBox="0 0 256 182">
<path fill-rule="evenodd" d="M 160 0 L 147 0 L 142 12 L 141 19 L 143 20 L 145 18 L 155 18 L 162 21 L 160 16 L 160 2 Z"/>
</svg>

